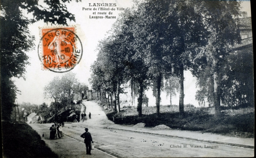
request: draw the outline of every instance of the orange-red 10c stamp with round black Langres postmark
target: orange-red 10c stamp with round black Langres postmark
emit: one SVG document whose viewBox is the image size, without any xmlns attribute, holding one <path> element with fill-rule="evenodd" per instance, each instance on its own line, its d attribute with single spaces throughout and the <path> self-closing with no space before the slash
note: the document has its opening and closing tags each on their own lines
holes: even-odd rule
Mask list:
<svg viewBox="0 0 256 158">
<path fill-rule="evenodd" d="M 68 72 L 80 62 L 83 47 L 75 27 L 42 28 L 38 57 L 43 70 Z"/>
</svg>

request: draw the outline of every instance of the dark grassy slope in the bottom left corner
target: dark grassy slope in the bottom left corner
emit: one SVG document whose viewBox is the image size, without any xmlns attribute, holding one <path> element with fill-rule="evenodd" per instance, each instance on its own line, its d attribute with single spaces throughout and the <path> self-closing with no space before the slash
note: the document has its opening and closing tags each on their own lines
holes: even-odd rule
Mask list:
<svg viewBox="0 0 256 158">
<path fill-rule="evenodd" d="M 29 125 L 2 122 L 4 158 L 58 157 Z"/>
</svg>

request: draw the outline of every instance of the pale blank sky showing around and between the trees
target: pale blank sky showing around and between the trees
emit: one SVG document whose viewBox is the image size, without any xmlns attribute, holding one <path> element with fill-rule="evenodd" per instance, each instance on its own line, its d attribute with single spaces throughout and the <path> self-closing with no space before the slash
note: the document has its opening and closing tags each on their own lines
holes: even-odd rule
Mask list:
<svg viewBox="0 0 256 158">
<path fill-rule="evenodd" d="M 95 10 L 83 10 L 84 8 L 94 8 L 89 7 L 89 3 L 116 3 L 116 7 L 129 8 L 132 7 L 132 0 L 82 0 L 82 2 L 70 2 L 67 3 L 67 9 L 70 13 L 75 15 L 76 21 L 69 21 L 69 26 L 76 27 L 76 34 L 79 36 L 82 46 L 83 46 L 83 56 L 78 65 L 75 66 L 71 72 L 76 73 L 76 77 L 80 82 L 86 83 L 89 85 L 88 79 L 90 78 L 90 65 L 97 58 L 97 51 L 95 51 L 97 44 L 100 40 L 106 37 L 107 31 L 111 29 L 112 24 L 116 21 L 116 19 L 90 19 L 89 16 L 95 16 L 93 12 L 97 12 Z M 41 4 L 42 3 L 41 0 Z M 242 1 L 241 6 L 242 11 L 246 11 L 248 16 L 251 16 L 250 11 L 250 1 Z M 109 11 L 100 11 L 106 12 L 109 14 Z M 112 16 L 118 16 L 121 11 L 113 11 Z M 27 15 L 31 17 L 31 14 Z M 38 50 L 37 45 L 40 41 L 40 29 L 39 27 L 52 27 L 47 25 L 43 21 L 36 22 L 29 26 L 29 30 L 31 30 L 31 35 L 35 36 L 35 45 L 36 48 L 32 51 L 26 52 L 29 56 L 30 65 L 26 68 L 26 80 L 22 78 L 13 78 L 15 81 L 15 85 L 21 91 L 21 95 L 17 95 L 18 103 L 22 102 L 30 102 L 31 104 L 40 105 L 43 102 L 49 103 L 50 99 L 44 98 L 43 88 L 55 77 L 61 77 L 66 73 L 55 73 L 52 71 L 42 70 L 41 62 L 38 58 Z M 196 93 L 196 78 L 192 76 L 189 71 L 184 72 L 184 104 L 191 103 L 195 106 L 198 106 L 198 102 L 195 100 Z M 90 86 L 89 86 L 90 87 Z M 146 91 L 146 94 L 149 98 L 149 106 L 155 105 L 155 98 L 153 97 L 153 92 L 151 89 Z M 178 105 L 178 95 L 173 97 L 173 103 Z M 166 97 L 165 93 L 161 93 L 161 104 L 168 105 L 169 97 Z"/>
</svg>

